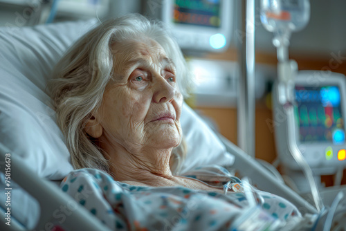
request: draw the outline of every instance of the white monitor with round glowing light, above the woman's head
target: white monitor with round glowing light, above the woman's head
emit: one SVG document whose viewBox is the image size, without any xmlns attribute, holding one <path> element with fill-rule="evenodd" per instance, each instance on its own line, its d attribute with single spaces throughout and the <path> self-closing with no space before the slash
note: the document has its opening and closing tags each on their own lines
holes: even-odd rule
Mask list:
<svg viewBox="0 0 346 231">
<path fill-rule="evenodd" d="M 182 49 L 224 51 L 230 43 L 233 26 L 233 1 L 164 0 L 161 10 L 147 0 L 147 15 L 170 26 Z"/>
</svg>

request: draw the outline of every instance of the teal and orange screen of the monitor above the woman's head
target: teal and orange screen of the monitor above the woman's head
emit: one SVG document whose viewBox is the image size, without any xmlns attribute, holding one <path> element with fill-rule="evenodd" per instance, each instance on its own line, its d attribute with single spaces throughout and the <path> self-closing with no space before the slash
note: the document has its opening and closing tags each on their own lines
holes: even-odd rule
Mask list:
<svg viewBox="0 0 346 231">
<path fill-rule="evenodd" d="M 220 0 L 175 0 L 173 22 L 219 28 L 220 11 Z"/>
</svg>

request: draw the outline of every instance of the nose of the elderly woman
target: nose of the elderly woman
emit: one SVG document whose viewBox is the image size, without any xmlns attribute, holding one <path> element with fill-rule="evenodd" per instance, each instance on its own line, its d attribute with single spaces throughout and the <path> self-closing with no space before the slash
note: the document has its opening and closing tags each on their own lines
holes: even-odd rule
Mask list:
<svg viewBox="0 0 346 231">
<path fill-rule="evenodd" d="M 172 86 L 165 78 L 159 76 L 156 77 L 154 83 L 154 95 L 153 100 L 156 103 L 170 102 L 173 100 L 176 93 L 175 86 Z"/>
</svg>

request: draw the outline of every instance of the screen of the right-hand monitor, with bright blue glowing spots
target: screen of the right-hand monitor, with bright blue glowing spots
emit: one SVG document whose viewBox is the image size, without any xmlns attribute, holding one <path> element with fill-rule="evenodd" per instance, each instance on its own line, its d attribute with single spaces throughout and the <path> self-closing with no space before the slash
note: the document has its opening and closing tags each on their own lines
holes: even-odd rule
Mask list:
<svg viewBox="0 0 346 231">
<path fill-rule="evenodd" d="M 345 143 L 338 86 L 295 86 L 295 121 L 300 142 Z"/>
</svg>

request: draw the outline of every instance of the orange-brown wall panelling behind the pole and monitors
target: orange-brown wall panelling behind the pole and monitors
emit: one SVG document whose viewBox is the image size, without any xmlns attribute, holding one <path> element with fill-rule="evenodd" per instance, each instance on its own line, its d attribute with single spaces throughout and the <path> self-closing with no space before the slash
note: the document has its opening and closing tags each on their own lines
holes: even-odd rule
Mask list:
<svg viewBox="0 0 346 231">
<path fill-rule="evenodd" d="M 228 49 L 224 53 L 209 54 L 206 56 L 208 59 L 224 59 L 235 61 L 237 59 L 237 50 L 233 48 Z M 332 57 L 327 56 L 307 56 L 304 54 L 291 55 L 291 59 L 295 59 L 298 62 L 299 70 L 316 70 L 316 71 L 333 71 L 336 73 L 342 73 L 346 75 L 346 62 L 336 62 Z M 256 53 L 257 64 L 271 64 L 276 65 L 276 56 L 269 53 L 257 52 Z M 334 65 L 331 65 L 334 64 Z M 338 65 L 336 65 L 338 64 Z M 270 96 L 268 96 L 270 97 Z M 269 100 L 267 97 L 267 100 Z M 237 144 L 237 108 L 221 108 L 221 107 L 196 107 L 203 115 L 206 115 L 218 126 L 220 133 L 228 138 L 228 140 Z M 255 156 L 262 160 L 266 160 L 272 163 L 275 160 L 277 153 L 275 149 L 275 140 L 273 127 L 273 111 L 266 99 L 257 100 L 255 110 Z M 343 184 L 346 184 L 346 172 L 344 171 Z M 333 184 L 333 178 L 331 176 L 322 177 L 322 181 L 326 185 Z"/>
</svg>

